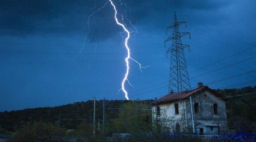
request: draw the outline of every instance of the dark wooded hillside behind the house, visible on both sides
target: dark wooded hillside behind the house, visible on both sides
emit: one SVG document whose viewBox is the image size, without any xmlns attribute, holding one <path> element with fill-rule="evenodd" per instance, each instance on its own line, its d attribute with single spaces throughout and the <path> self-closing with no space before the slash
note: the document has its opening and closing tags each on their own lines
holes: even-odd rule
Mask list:
<svg viewBox="0 0 256 142">
<path fill-rule="evenodd" d="M 227 118 L 230 129 L 256 132 L 256 87 L 216 91 L 227 98 Z M 148 109 L 148 111 L 141 113 L 146 113 L 150 118 L 143 117 L 143 119 L 151 123 L 151 107 L 149 105 L 151 101 L 153 100 L 105 100 L 105 122 L 106 124 L 110 124 L 111 122 L 111 125 L 113 125 L 113 122 L 118 117 L 121 115 L 125 116 L 125 114 L 120 114 L 125 103 L 131 103 L 132 105 L 132 102 L 138 102 L 146 105 L 143 107 L 146 107 L 145 109 Z M 48 122 L 64 129 L 75 129 L 81 124 L 86 124 L 91 129 L 93 122 L 93 103 L 93 100 L 88 100 L 86 102 L 51 108 L 45 107 L 0 112 L 0 130 L 1 132 L 14 132 L 24 124 L 33 122 Z M 97 122 L 99 120 L 100 124 L 102 124 L 102 103 L 103 100 L 96 101 L 96 119 Z"/>
</svg>

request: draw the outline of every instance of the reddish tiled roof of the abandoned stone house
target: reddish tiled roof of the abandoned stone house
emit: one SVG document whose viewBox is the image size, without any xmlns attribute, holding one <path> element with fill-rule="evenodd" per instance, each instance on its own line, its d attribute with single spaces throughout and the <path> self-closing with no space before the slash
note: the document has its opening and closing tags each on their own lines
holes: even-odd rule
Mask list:
<svg viewBox="0 0 256 142">
<path fill-rule="evenodd" d="M 214 95 L 217 95 L 218 97 L 222 98 L 222 96 L 219 95 L 217 92 L 214 92 L 214 90 L 209 89 L 209 87 L 207 87 L 207 86 L 202 86 L 202 87 L 196 88 L 191 91 L 178 92 L 178 93 L 172 93 L 172 94 L 169 93 L 169 94 L 165 95 L 164 97 L 159 98 L 158 100 L 154 100 L 153 102 L 151 102 L 151 105 L 170 103 L 170 102 L 173 102 L 176 100 L 184 100 L 184 99 L 188 98 L 189 96 L 191 96 L 197 92 L 200 92 L 202 90 L 209 90 L 209 91 L 213 92 Z"/>
</svg>

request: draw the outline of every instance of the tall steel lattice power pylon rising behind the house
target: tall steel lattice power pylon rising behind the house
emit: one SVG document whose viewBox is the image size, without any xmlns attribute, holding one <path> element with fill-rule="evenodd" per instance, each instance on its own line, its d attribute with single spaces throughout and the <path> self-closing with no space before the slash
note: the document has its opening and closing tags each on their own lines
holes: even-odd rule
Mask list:
<svg viewBox="0 0 256 142">
<path fill-rule="evenodd" d="M 182 24 L 187 27 L 187 23 L 185 21 L 177 20 L 176 12 L 174 12 L 173 25 L 170 25 L 166 29 L 166 31 L 173 29 L 171 35 L 165 40 L 165 43 L 171 41 L 171 45 L 167 49 L 167 53 L 170 52 L 169 92 L 183 92 L 186 90 L 191 90 L 187 63 L 184 56 L 184 48 L 189 47 L 189 45 L 182 44 L 181 42 L 181 37 L 189 35 L 190 38 L 190 33 L 179 31 L 179 25 Z"/>
</svg>

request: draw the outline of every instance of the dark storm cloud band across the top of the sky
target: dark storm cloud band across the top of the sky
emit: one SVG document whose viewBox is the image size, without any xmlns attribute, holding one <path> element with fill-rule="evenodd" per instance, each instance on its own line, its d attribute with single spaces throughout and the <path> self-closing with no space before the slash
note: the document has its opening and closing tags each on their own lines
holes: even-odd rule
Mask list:
<svg viewBox="0 0 256 142">
<path fill-rule="evenodd" d="M 95 42 L 108 39 L 120 32 L 113 20 L 113 9 L 108 4 L 105 9 L 96 12 L 89 21 L 88 17 L 106 1 L 61 1 L 61 0 L 1 0 L 0 34 L 10 36 L 47 35 L 47 34 L 86 34 Z M 140 25 L 148 21 L 159 21 L 163 18 L 156 13 L 182 9 L 182 12 L 205 12 L 231 4 L 230 1 L 116 1 L 118 12 L 132 20 L 132 24 Z M 124 5 L 126 4 L 126 5 Z M 216 12 L 216 11 L 215 11 Z M 153 17 L 152 17 L 153 16 Z M 192 17 L 194 18 L 194 17 Z M 199 17 L 195 17 L 199 18 Z M 221 18 L 219 16 L 219 18 Z M 124 19 L 126 20 L 126 19 Z M 197 20 L 197 19 L 195 19 Z M 127 22 L 127 21 L 125 21 Z M 154 23 L 154 22 L 153 22 Z M 127 26 L 131 26 L 127 24 Z"/>
</svg>

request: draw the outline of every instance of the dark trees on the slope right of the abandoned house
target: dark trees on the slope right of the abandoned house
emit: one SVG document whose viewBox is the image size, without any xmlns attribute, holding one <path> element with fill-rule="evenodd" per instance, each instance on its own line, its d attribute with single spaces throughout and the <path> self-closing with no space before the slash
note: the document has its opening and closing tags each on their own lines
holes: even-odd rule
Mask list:
<svg viewBox="0 0 256 142">
<path fill-rule="evenodd" d="M 236 132 L 256 132 L 256 87 L 217 90 L 227 98 L 227 122 Z"/>
</svg>

